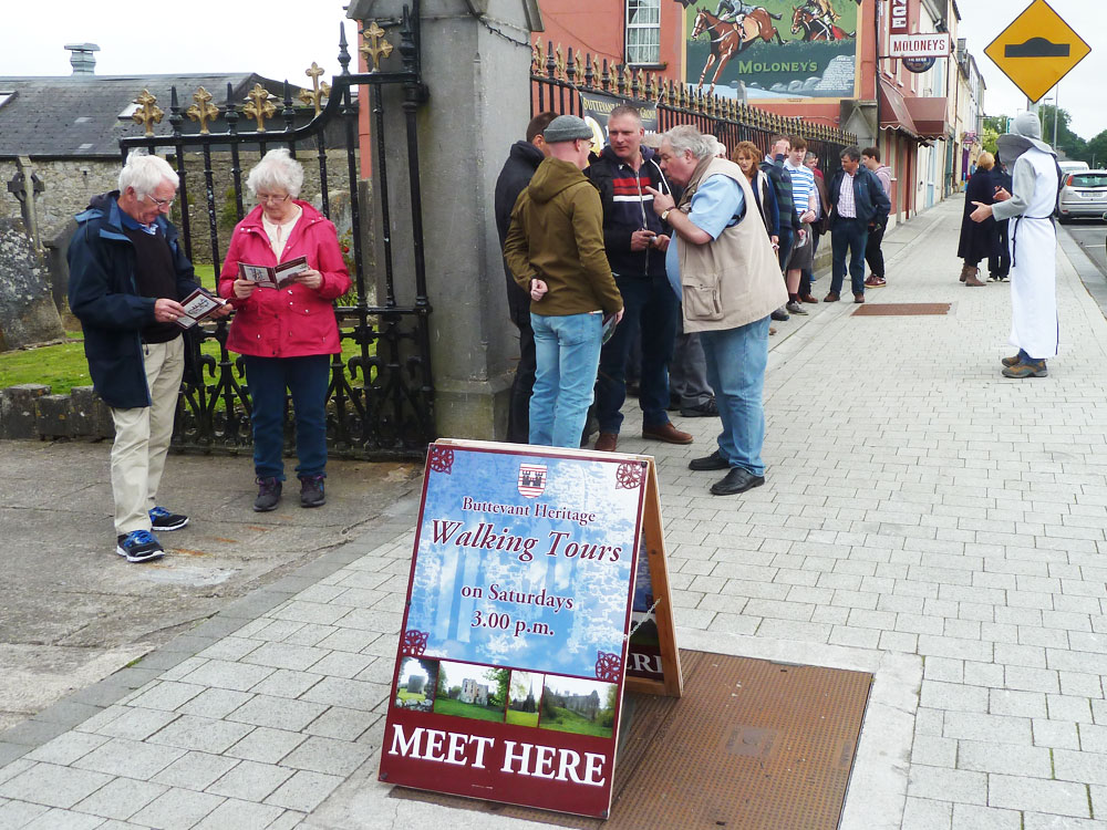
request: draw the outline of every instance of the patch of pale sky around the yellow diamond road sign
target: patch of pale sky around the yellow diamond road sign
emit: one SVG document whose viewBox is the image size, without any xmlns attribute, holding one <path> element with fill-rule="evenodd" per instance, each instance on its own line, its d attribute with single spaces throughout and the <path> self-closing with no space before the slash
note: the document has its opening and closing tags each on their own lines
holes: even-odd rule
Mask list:
<svg viewBox="0 0 1107 830">
<path fill-rule="evenodd" d="M 1107 129 L 1107 107 L 1103 106 L 1103 79 L 1107 76 L 1107 38 L 1104 37 L 1103 0 L 1048 0 L 1053 10 L 1079 34 L 1092 53 L 1062 80 L 1058 106 L 1072 115 L 1069 127 L 1085 139 Z M 958 37 L 965 38 L 969 52 L 984 76 L 984 112 L 1015 115 L 1026 108 L 1026 96 L 984 54 L 1007 24 L 1030 6 L 1030 0 L 958 0 L 961 23 Z M 1039 103 L 1053 103 L 1053 92 Z"/>
</svg>

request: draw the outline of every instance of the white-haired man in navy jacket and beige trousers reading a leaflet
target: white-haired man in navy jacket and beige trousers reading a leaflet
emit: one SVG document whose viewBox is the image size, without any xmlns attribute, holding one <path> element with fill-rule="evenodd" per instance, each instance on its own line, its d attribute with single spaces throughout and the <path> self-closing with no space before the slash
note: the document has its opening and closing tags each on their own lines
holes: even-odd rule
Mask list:
<svg viewBox="0 0 1107 830">
<path fill-rule="evenodd" d="M 185 361 L 175 321 L 185 313 L 179 301 L 198 288 L 165 218 L 176 195 L 177 174 L 165 159 L 132 154 L 120 189 L 77 215 L 69 247 L 70 309 L 115 425 L 115 550 L 128 562 L 164 556 L 153 531 L 188 523 L 156 501 Z"/>
</svg>

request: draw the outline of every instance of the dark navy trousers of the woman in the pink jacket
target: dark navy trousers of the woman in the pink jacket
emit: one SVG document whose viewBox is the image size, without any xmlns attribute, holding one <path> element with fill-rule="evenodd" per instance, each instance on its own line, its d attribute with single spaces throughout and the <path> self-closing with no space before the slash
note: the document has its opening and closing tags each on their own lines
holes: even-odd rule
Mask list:
<svg viewBox="0 0 1107 830">
<path fill-rule="evenodd" d="M 284 390 L 296 413 L 296 475 L 321 476 L 327 469 L 327 385 L 329 354 L 307 357 L 245 355 L 254 424 L 254 470 L 259 478 L 284 480 Z"/>
</svg>

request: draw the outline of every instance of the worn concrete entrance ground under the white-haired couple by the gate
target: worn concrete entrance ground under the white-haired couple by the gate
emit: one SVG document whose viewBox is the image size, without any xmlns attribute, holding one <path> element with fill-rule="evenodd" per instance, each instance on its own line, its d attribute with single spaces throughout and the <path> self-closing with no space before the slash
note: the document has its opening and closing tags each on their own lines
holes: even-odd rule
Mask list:
<svg viewBox="0 0 1107 830">
<path fill-rule="evenodd" d="M 188 527 L 136 568 L 114 551 L 110 442 L 0 442 L 0 729 L 106 677 L 320 553 L 371 532 L 418 485 L 412 464 L 332 461 L 328 504 L 293 480 L 255 513 L 249 457 L 170 455 L 162 496 Z"/>
</svg>

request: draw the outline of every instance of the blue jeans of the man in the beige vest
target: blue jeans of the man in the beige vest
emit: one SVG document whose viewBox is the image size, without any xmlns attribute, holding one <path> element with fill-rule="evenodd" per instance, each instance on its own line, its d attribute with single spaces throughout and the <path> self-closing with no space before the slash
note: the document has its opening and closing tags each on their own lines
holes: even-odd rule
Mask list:
<svg viewBox="0 0 1107 830">
<path fill-rule="evenodd" d="M 732 467 L 765 475 L 765 365 L 768 363 L 768 318 L 723 331 L 700 332 L 707 359 L 707 381 L 715 390 L 723 432 L 718 454 Z"/>
</svg>

